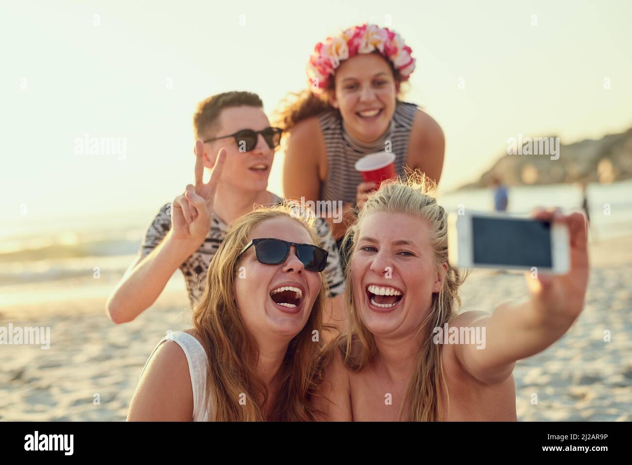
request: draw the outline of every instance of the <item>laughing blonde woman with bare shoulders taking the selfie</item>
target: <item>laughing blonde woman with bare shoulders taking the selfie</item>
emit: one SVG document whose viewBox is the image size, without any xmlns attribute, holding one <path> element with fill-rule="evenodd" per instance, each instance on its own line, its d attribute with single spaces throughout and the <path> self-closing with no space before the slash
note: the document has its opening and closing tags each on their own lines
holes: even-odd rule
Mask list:
<svg viewBox="0 0 632 465">
<path fill-rule="evenodd" d="M 332 420 L 515 421 L 516 361 L 549 347 L 581 313 L 585 219 L 540 211 L 538 219 L 569 227 L 569 273 L 528 277 L 530 299 L 493 315 L 457 314 L 465 277 L 447 263 L 446 213 L 428 184 L 416 174 L 383 185 L 345 237 L 351 333 L 337 341 L 322 391 Z M 446 323 L 485 328 L 484 349 L 435 343 L 434 329 Z"/>
</svg>

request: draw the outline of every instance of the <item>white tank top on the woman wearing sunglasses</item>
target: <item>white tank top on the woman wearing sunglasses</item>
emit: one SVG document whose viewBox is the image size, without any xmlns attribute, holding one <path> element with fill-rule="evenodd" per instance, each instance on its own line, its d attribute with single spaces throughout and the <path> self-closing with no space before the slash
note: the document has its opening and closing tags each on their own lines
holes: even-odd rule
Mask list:
<svg viewBox="0 0 632 465">
<path fill-rule="evenodd" d="M 154 352 L 165 341 L 176 342 L 185 353 L 186 361 L 189 365 L 189 375 L 191 377 L 191 389 L 193 389 L 193 421 L 209 421 L 209 411 L 207 410 L 206 396 L 206 370 L 208 358 L 206 351 L 200 341 L 194 336 L 183 331 L 167 331 L 167 334 L 158 342 L 154 351 L 147 359 L 147 363 L 154 356 Z M 147 363 L 143 367 L 140 376 L 143 376 Z"/>
</svg>

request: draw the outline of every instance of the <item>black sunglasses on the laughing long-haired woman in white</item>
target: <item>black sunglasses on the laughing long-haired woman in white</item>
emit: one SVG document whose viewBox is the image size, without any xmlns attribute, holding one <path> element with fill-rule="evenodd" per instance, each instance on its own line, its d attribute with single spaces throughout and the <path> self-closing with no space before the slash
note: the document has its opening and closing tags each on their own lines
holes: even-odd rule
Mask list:
<svg viewBox="0 0 632 465">
<path fill-rule="evenodd" d="M 329 252 L 311 244 L 297 244 L 295 242 L 283 241 L 282 239 L 252 239 L 241 250 L 237 260 L 245 253 L 250 246 L 255 246 L 255 255 L 259 263 L 264 265 L 278 265 L 285 262 L 289 255 L 290 246 L 296 246 L 296 256 L 305 265 L 306 270 L 320 272 L 327 265 L 327 255 Z"/>
</svg>

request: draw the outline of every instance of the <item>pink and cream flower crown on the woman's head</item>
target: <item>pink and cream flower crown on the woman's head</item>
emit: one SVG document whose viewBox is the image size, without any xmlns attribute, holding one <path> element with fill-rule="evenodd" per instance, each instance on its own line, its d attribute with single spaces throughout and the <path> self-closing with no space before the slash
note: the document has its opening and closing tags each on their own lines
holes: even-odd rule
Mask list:
<svg viewBox="0 0 632 465">
<path fill-rule="evenodd" d="M 398 33 L 375 24 L 363 24 L 345 30 L 339 37 L 327 37 L 314 47 L 307 64 L 307 76 L 314 94 L 322 94 L 340 62 L 359 53 L 379 51 L 391 61 L 403 81 L 415 70 L 412 50 Z"/>
</svg>

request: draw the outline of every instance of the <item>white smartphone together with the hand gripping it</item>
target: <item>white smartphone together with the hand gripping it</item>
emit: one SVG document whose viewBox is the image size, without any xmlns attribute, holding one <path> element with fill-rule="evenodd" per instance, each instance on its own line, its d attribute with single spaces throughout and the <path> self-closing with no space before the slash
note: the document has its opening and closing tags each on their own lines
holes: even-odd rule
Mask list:
<svg viewBox="0 0 632 465">
<path fill-rule="evenodd" d="M 448 257 L 456 267 L 523 269 L 535 315 L 563 327 L 583 309 L 588 286 L 586 219 L 537 210 L 532 218 L 449 215 Z"/>
</svg>

